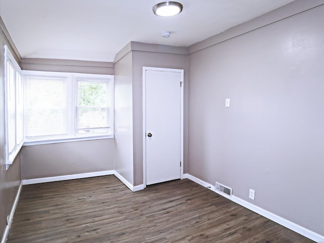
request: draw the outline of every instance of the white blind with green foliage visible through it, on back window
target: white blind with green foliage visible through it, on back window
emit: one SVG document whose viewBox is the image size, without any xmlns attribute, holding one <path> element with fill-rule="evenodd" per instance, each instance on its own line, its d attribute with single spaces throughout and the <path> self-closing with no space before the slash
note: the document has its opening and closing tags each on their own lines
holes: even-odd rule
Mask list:
<svg viewBox="0 0 324 243">
<path fill-rule="evenodd" d="M 111 133 L 111 83 L 103 79 L 77 78 L 75 132 L 82 135 Z"/>
</svg>

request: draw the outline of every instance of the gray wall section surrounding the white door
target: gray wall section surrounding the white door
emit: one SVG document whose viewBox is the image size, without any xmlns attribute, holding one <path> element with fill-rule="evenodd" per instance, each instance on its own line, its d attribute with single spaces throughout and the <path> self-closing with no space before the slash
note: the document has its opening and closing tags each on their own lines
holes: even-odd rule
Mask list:
<svg viewBox="0 0 324 243">
<path fill-rule="evenodd" d="M 150 47 L 152 47 L 152 45 L 147 44 L 142 48 Z M 164 47 L 166 48 L 165 51 L 168 51 L 168 46 Z M 153 50 L 155 48 L 156 47 L 153 45 Z M 153 52 L 153 50 L 151 52 L 132 51 L 134 185 L 143 184 L 143 66 L 184 69 L 184 173 L 187 172 L 189 57 L 184 54 L 158 53 Z"/>
</svg>

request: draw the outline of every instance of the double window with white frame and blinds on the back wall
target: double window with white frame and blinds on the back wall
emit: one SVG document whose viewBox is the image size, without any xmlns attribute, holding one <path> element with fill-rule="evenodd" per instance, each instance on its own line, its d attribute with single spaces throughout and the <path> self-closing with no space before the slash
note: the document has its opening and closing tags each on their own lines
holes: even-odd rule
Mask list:
<svg viewBox="0 0 324 243">
<path fill-rule="evenodd" d="M 23 71 L 25 141 L 113 136 L 113 76 Z"/>
</svg>

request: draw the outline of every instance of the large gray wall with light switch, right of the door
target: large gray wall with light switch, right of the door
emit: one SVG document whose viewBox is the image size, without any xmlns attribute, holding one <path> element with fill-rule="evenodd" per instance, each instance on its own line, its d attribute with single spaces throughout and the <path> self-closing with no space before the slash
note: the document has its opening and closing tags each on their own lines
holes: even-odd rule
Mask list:
<svg viewBox="0 0 324 243">
<path fill-rule="evenodd" d="M 315 2 L 189 48 L 188 173 L 324 235 L 324 6 L 292 12 Z"/>
</svg>

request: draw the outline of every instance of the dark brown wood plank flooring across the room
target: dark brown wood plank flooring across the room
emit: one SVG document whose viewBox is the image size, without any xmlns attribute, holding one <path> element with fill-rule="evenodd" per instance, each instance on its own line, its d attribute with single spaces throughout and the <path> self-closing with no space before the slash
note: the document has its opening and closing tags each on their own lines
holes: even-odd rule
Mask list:
<svg viewBox="0 0 324 243">
<path fill-rule="evenodd" d="M 7 243 L 314 242 L 188 179 L 132 192 L 115 176 L 24 185 Z"/>
</svg>

